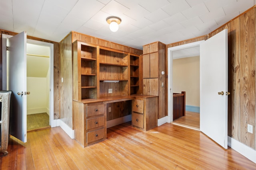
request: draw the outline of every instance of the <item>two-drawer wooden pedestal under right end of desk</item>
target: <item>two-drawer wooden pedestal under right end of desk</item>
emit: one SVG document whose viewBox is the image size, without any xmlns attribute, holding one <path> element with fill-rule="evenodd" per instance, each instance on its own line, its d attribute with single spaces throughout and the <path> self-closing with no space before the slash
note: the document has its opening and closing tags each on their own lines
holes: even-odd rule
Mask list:
<svg viewBox="0 0 256 170">
<path fill-rule="evenodd" d="M 132 100 L 132 126 L 147 131 L 157 126 L 158 97 L 143 96 Z"/>
</svg>

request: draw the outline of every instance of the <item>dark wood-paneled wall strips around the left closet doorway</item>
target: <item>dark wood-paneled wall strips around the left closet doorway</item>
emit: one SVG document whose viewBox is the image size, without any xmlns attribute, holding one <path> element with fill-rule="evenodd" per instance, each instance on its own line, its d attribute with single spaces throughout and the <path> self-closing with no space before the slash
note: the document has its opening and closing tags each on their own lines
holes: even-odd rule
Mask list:
<svg viewBox="0 0 256 170">
<path fill-rule="evenodd" d="M 16 35 L 17 33 L 10 32 L 10 31 L 5 31 L 5 30 L 0 30 L 0 37 L 1 37 L 1 42 L 0 42 L 0 90 L 2 90 L 2 34 L 6 35 Z M 59 59 L 60 59 L 60 54 L 59 54 L 59 43 L 56 43 L 54 41 L 49 41 L 46 39 L 40 39 L 36 37 L 31 37 L 27 36 L 27 39 L 33 39 L 36 41 L 43 41 L 47 43 L 53 43 L 54 44 L 54 119 L 59 119 L 60 118 L 60 99 L 59 99 Z"/>
</svg>

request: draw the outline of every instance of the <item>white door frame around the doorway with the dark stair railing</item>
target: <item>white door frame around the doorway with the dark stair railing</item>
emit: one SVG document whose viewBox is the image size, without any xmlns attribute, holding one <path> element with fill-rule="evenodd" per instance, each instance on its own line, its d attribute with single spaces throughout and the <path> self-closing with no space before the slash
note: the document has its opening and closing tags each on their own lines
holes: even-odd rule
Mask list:
<svg viewBox="0 0 256 170">
<path fill-rule="evenodd" d="M 167 88 L 168 89 L 168 94 L 167 94 L 168 116 L 167 116 L 167 122 L 168 123 L 173 121 L 173 113 L 172 113 L 172 111 L 173 111 L 172 110 L 172 102 L 173 102 L 173 97 L 172 97 L 172 93 L 173 93 L 172 92 L 172 60 L 173 60 L 173 56 L 172 56 L 172 51 L 200 46 L 200 44 L 202 42 L 204 42 L 204 40 L 168 48 L 168 66 L 167 66 L 167 68 L 168 68 L 168 83 L 167 83 L 168 84 L 168 88 Z"/>
</svg>

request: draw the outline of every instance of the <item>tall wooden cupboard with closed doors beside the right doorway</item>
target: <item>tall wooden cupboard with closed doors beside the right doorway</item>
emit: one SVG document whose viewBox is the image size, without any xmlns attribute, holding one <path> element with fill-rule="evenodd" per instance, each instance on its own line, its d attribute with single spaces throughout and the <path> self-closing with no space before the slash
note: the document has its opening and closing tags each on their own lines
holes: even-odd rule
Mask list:
<svg viewBox="0 0 256 170">
<path fill-rule="evenodd" d="M 155 42 L 143 46 L 143 94 L 158 96 L 158 119 L 167 116 L 166 45 Z"/>
</svg>

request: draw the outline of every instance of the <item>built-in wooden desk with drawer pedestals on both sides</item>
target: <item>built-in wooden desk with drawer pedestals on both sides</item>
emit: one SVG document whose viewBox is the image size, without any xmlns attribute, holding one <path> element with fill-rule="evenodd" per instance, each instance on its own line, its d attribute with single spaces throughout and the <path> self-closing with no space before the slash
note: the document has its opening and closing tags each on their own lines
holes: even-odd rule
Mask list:
<svg viewBox="0 0 256 170">
<path fill-rule="evenodd" d="M 106 139 L 106 105 L 131 100 L 132 126 L 149 130 L 157 126 L 158 96 L 130 95 L 73 100 L 74 138 L 83 147 Z M 121 122 L 122 123 L 122 122 Z"/>
</svg>

